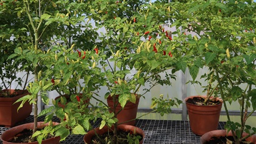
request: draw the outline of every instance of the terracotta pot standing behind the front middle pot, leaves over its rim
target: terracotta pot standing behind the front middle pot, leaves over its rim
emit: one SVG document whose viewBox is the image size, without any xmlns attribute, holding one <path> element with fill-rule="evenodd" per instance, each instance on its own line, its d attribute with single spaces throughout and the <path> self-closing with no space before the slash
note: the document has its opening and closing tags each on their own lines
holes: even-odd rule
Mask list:
<svg viewBox="0 0 256 144">
<path fill-rule="evenodd" d="M 118 96 L 117 96 L 118 97 Z M 124 106 L 124 109 L 119 112 L 116 118 L 118 118 L 118 123 L 126 124 L 126 125 L 135 125 L 135 119 L 137 117 L 137 111 L 138 111 L 138 103 L 140 102 L 140 97 L 137 97 L 136 103 L 127 102 L 126 106 Z M 116 104 L 118 101 L 116 101 Z M 114 101 L 112 97 L 107 98 L 107 104 L 108 106 L 113 109 L 114 108 Z M 120 103 L 116 106 L 116 111 L 118 112 L 120 109 L 122 109 Z M 110 112 L 112 112 L 110 110 Z M 132 120 L 130 122 L 127 122 L 129 120 Z M 123 123 L 126 122 L 126 123 Z"/>
</svg>

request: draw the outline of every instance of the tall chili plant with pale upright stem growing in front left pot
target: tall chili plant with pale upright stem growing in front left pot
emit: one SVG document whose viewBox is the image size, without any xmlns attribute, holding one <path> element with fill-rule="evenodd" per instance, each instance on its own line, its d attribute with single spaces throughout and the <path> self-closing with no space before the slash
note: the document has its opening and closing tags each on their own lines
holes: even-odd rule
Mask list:
<svg viewBox="0 0 256 144">
<path fill-rule="evenodd" d="M 4 4 L 1 4 L 1 8 L 3 8 L 1 12 L 15 13 L 15 15 L 18 16 L 17 19 L 23 20 L 21 30 L 24 31 L 26 43 L 23 44 L 24 47 L 16 48 L 15 53 L 10 55 L 9 59 L 15 58 L 17 61 L 26 60 L 34 69 L 34 82 L 29 83 L 29 86 L 27 86 L 27 91 L 29 91 L 30 94 L 17 101 L 21 101 L 19 108 L 22 108 L 26 101 L 34 105 L 34 123 L 29 127 L 33 128 L 31 140 L 33 142 L 49 143 L 44 141 L 49 134 L 51 134 L 52 139 L 55 140 L 54 143 L 59 143 L 62 138 L 62 135 L 58 135 L 61 131 L 60 125 L 51 122 L 51 118 L 53 117 L 51 114 L 47 115 L 43 122 L 49 123 L 42 125 L 46 126 L 46 128 L 37 131 L 38 128 L 41 128 L 41 123 L 37 122 L 37 103 L 38 98 L 41 98 L 44 103 L 48 104 L 49 98 L 46 92 L 51 90 L 52 87 L 56 86 L 59 82 L 59 80 L 49 80 L 49 74 L 45 73 L 47 72 L 46 69 L 52 67 L 52 63 L 49 61 L 51 60 L 52 53 L 60 52 L 59 49 L 56 49 L 53 45 L 57 45 L 57 41 L 66 40 L 62 37 L 68 34 L 65 29 L 66 27 L 72 28 L 83 20 L 84 16 L 77 13 L 83 4 L 84 3 L 69 1 L 5 1 Z M 67 9 L 66 6 L 69 6 L 69 9 Z M 7 15 L 7 13 L 5 14 Z M 55 29 L 55 27 L 58 26 L 59 29 Z M 81 25 L 79 25 L 78 28 L 73 28 L 78 31 L 81 28 L 80 26 Z M 78 40 L 79 39 L 76 39 L 76 42 Z M 68 43 L 70 41 L 65 42 L 67 46 L 71 47 L 71 43 Z M 40 115 L 43 114 L 44 113 Z M 21 131 L 22 130 L 23 129 L 21 129 Z M 5 141 L 11 139 L 12 136 L 13 134 L 10 135 L 6 131 L 2 134 L 2 140 L 5 143 Z M 61 136 L 61 138 L 58 136 Z"/>
</svg>

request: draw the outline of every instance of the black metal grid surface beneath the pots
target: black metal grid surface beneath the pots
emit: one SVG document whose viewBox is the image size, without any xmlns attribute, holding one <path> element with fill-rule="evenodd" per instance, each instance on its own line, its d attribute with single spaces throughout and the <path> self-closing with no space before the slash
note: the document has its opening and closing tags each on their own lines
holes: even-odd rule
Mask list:
<svg viewBox="0 0 256 144">
<path fill-rule="evenodd" d="M 43 121 L 44 117 L 38 118 L 38 121 Z M 59 122 L 59 118 L 54 118 L 55 122 Z M 18 123 L 21 125 L 23 123 L 33 122 L 32 115 L 23 122 Z M 93 123 L 93 127 L 99 126 L 101 120 Z M 224 122 L 219 122 L 218 129 L 224 129 Z M 135 126 L 141 128 L 146 137 L 144 139 L 144 144 L 168 144 L 168 143 L 200 143 L 200 136 L 193 134 L 190 129 L 190 123 L 188 121 L 181 120 L 137 120 Z M 0 127 L 0 135 L 9 128 L 4 126 Z M 69 135 L 65 141 L 60 143 L 70 143 L 70 144 L 80 144 L 84 143 L 84 135 Z M 2 140 L 0 140 L 2 144 Z"/>
</svg>

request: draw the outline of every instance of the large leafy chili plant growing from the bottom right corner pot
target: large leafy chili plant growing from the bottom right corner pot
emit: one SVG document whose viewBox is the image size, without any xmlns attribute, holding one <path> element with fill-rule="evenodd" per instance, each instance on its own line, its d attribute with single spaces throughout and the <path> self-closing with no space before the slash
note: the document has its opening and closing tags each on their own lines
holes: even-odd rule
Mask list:
<svg viewBox="0 0 256 144">
<path fill-rule="evenodd" d="M 247 118 L 255 112 L 255 22 L 249 20 L 253 17 L 255 2 L 193 1 L 186 4 L 184 20 L 187 20 L 183 24 L 198 36 L 190 36 L 188 43 L 199 53 L 201 61 L 205 61 L 205 66 L 215 70 L 218 95 L 224 101 L 227 115 L 224 133 L 231 131 L 233 143 L 240 143 L 256 130 L 246 125 Z M 239 123 L 229 117 L 227 103 L 234 101 L 240 106 Z M 203 143 L 204 137 L 207 136 L 202 136 Z"/>
</svg>

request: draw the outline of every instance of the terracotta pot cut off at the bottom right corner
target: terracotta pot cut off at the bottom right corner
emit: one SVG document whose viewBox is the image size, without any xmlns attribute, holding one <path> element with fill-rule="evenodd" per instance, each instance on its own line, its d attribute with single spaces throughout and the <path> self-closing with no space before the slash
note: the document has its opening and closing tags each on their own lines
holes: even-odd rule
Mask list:
<svg viewBox="0 0 256 144">
<path fill-rule="evenodd" d="M 245 132 L 243 133 L 243 137 L 247 135 Z M 226 130 L 215 130 L 215 131 L 209 131 L 202 135 L 201 137 L 201 143 L 204 144 L 208 142 L 212 137 L 225 137 L 225 136 L 232 136 L 232 131 L 229 131 L 229 134 L 227 134 Z M 251 142 L 256 144 L 256 135 L 252 135 L 251 137 L 248 137 L 246 139 L 247 142 Z"/>
</svg>

